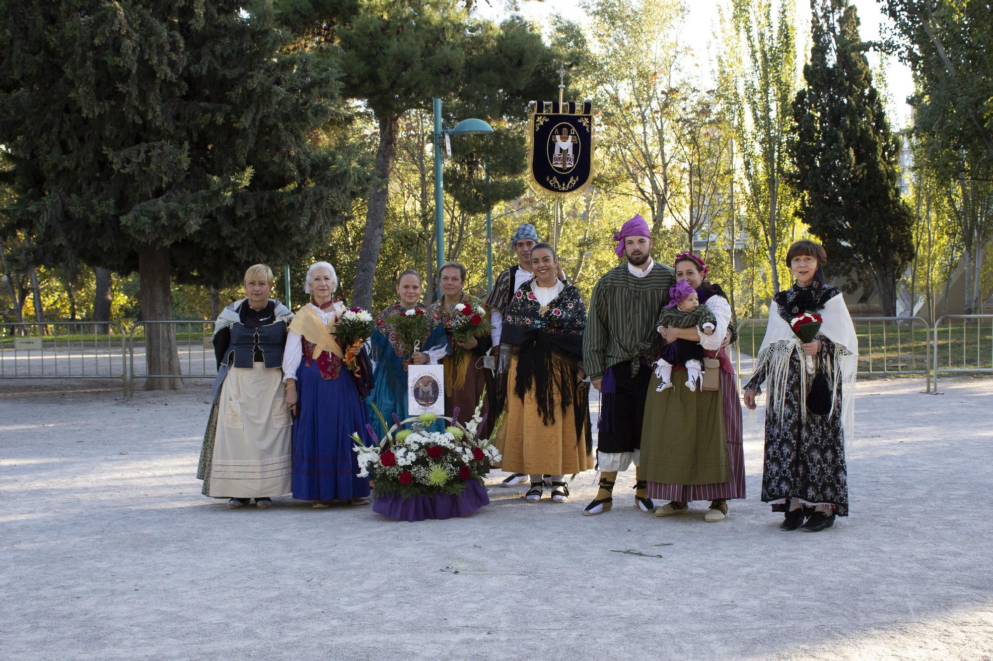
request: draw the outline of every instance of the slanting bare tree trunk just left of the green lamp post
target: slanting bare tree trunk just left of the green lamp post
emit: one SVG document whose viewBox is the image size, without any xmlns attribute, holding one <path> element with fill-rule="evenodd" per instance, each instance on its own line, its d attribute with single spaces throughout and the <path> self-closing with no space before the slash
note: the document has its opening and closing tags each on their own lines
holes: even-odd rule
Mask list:
<svg viewBox="0 0 993 661">
<path fill-rule="evenodd" d="M 372 309 L 372 280 L 375 277 L 376 262 L 379 261 L 379 247 L 382 245 L 389 176 L 393 172 L 393 163 L 396 160 L 398 125 L 398 116 L 379 118 L 379 148 L 375 153 L 377 181 L 369 191 L 368 205 L 365 209 L 365 232 L 362 234 L 362 248 L 358 253 L 355 287 L 352 290 L 352 305 L 366 310 Z M 430 273 L 428 275 L 430 276 Z"/>
</svg>

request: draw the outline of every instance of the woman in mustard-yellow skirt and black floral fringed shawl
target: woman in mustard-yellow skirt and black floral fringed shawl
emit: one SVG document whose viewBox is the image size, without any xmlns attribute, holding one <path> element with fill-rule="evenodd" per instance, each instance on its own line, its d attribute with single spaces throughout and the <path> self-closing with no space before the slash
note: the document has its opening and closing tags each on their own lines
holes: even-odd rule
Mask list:
<svg viewBox="0 0 993 661">
<path fill-rule="evenodd" d="M 589 383 L 581 364 L 586 306 L 574 285 L 557 277 L 547 243 L 531 249 L 533 277 L 513 295 L 501 342 L 511 345 L 503 424 L 497 449 L 503 470 L 531 475 L 534 502 L 551 475 L 552 501 L 565 502 L 564 476 L 593 467 Z"/>
</svg>

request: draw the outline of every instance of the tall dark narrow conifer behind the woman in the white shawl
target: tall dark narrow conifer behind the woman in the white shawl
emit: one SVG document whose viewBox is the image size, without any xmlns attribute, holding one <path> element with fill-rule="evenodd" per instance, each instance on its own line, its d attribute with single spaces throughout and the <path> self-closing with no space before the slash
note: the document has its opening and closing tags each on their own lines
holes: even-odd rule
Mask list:
<svg viewBox="0 0 993 661">
<path fill-rule="evenodd" d="M 806 87 L 793 102 L 799 217 L 836 275 L 853 274 L 896 315 L 897 279 L 914 256 L 913 214 L 900 197 L 900 142 L 872 83 L 848 0 L 811 0 Z"/>
</svg>

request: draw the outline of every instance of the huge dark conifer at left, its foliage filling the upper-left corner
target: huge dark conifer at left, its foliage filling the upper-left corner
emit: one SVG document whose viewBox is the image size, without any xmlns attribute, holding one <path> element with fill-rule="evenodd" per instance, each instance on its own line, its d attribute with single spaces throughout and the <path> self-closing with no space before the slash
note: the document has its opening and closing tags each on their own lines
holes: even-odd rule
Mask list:
<svg viewBox="0 0 993 661">
<path fill-rule="evenodd" d="M 172 319 L 172 278 L 219 286 L 288 260 L 360 193 L 350 152 L 313 141 L 344 121 L 336 71 L 288 49 L 265 0 L 3 0 L 0 18 L 9 217 L 47 249 L 137 269 L 146 320 Z M 177 373 L 159 339 L 149 372 Z"/>
</svg>

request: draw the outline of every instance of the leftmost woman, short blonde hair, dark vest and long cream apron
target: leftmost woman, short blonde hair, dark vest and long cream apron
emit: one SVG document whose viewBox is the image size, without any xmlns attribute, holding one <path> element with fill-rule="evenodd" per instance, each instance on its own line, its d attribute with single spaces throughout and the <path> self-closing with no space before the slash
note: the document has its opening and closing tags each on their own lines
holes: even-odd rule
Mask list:
<svg viewBox="0 0 993 661">
<path fill-rule="evenodd" d="M 220 311 L 213 325 L 217 378 L 197 476 L 203 493 L 237 509 L 255 498 L 266 509 L 290 491 L 290 411 L 283 387 L 286 306 L 269 298 L 272 269 L 248 267 L 245 298 Z"/>
</svg>

